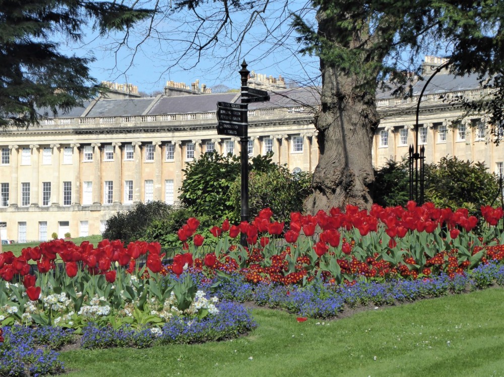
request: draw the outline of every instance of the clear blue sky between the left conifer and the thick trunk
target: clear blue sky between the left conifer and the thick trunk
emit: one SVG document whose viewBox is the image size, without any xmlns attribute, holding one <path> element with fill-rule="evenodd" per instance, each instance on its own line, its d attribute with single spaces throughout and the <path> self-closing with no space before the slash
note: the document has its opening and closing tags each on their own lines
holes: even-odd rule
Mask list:
<svg viewBox="0 0 504 377">
<path fill-rule="evenodd" d="M 289 7 L 293 7 L 291 10 L 305 5 L 295 3 L 288 2 Z M 271 12 L 269 16 L 273 16 L 271 17 L 273 21 L 269 26 L 275 27 L 276 33 L 280 36 L 289 34 L 291 32 L 289 23 L 278 22 L 281 18 L 286 18 L 285 9 L 273 8 Z M 250 30 L 241 45 L 240 52 L 233 59 L 228 58 L 223 63 L 223 57 L 230 51 L 229 46 L 238 39 L 236 30 L 240 27 L 239 23 L 246 17 L 240 13 L 233 15 L 234 29 L 228 31 L 229 38 L 222 38 L 223 40 L 219 40 L 215 48 L 204 51 L 199 63 L 196 64 L 194 58 L 180 52 L 185 48 L 183 41 L 190 37 L 195 27 L 190 22 L 191 16 L 191 14 L 179 12 L 159 19 L 156 30 L 159 31 L 158 36 L 165 39 L 161 41 L 159 38 L 148 38 L 137 49 L 133 59 L 132 49 L 143 38 L 145 28 L 148 26 L 146 23 L 139 25 L 131 32 L 130 48 L 122 47 L 117 54 L 112 51 L 113 43 L 122 38 L 121 34 L 98 38 L 90 29 L 85 30 L 83 42 L 62 41 L 60 47 L 68 54 L 94 56 L 96 61 L 90 64 L 91 76 L 98 81 L 131 83 L 137 85 L 139 91 L 146 93 L 162 90 L 166 81 L 169 80 L 190 85 L 198 79 L 200 84 L 206 84 L 210 88 L 223 84 L 237 89 L 240 85 L 240 76 L 237 71 L 243 59 L 249 64 L 249 70 L 275 78 L 281 75 L 287 82 L 294 81 L 309 85 L 310 80 L 317 79 L 320 74 L 318 58 L 301 56 L 296 52 L 300 47 L 294 40 L 294 33 L 290 33 L 292 34 L 290 38 L 282 40 L 269 38 L 267 42 L 258 43 L 257 41 L 266 30 L 265 25 L 260 23 Z M 183 57 L 180 63 L 173 64 L 180 56 Z M 170 65 L 175 66 L 170 67 Z M 192 65 L 196 66 L 190 67 Z M 317 83 L 317 81 L 314 82 L 314 84 Z"/>
</svg>

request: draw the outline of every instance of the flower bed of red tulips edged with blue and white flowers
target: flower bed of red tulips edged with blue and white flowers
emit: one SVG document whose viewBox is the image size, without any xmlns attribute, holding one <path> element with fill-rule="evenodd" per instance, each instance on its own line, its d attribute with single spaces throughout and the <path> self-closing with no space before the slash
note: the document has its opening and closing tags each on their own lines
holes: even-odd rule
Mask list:
<svg viewBox="0 0 504 377">
<path fill-rule="evenodd" d="M 478 220 L 467 210 L 429 203 L 292 213 L 288 225 L 264 209 L 250 223 L 225 220 L 213 227 L 212 253 L 202 253 L 200 223 L 190 218 L 177 233 L 183 251 L 168 266 L 160 245 L 146 242 L 103 240 L 95 248 L 54 240 L 19 257 L 1 253 L 0 375 L 62 370 L 50 350 L 57 346 L 37 348 L 36 355 L 18 346 L 12 329 L 28 329 L 15 326 L 20 324 L 57 325 L 51 331 L 61 334 L 73 329 L 85 348 L 147 347 L 226 339 L 254 328 L 243 307 L 222 300 L 251 300 L 301 319 L 330 318 L 346 306 L 502 285 L 504 269 L 493 262 L 504 258 L 504 239 L 495 227 L 503 212 L 482 207 L 481 213 L 486 224 L 479 224 L 484 232 L 477 236 Z M 237 245 L 239 235 L 247 247 Z M 25 342 L 43 344 L 37 334 Z"/>
</svg>

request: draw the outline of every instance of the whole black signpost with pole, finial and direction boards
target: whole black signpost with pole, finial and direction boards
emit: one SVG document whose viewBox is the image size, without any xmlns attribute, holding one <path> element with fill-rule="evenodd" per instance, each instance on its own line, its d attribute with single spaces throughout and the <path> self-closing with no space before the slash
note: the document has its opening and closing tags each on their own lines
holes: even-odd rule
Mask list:
<svg viewBox="0 0 504 377">
<path fill-rule="evenodd" d="M 248 221 L 248 104 L 270 100 L 268 92 L 248 88 L 247 63 L 243 59 L 241 69 L 241 103 L 217 102 L 217 134 L 239 136 L 241 144 L 241 221 Z M 247 245 L 247 237 L 241 234 L 240 245 Z"/>
</svg>

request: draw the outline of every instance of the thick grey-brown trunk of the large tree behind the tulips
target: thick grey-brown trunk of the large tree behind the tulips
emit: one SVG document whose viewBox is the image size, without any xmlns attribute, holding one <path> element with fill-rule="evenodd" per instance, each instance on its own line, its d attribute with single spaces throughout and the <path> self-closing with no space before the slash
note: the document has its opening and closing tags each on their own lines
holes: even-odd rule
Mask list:
<svg viewBox="0 0 504 377">
<path fill-rule="evenodd" d="M 333 25 L 325 18 L 319 19 L 319 32 L 328 39 L 331 35 L 337 39 L 339 31 Z M 359 44 L 366 31 L 354 34 L 350 44 Z M 315 116 L 320 158 L 313 174 L 314 193 L 305 202 L 306 210 L 315 213 L 347 204 L 369 209 L 372 200 L 367 186 L 374 179 L 371 144 L 380 118 L 375 88 L 370 89 L 368 84 L 375 83 L 376 74 L 366 69 L 341 69 L 323 56 L 321 70 L 322 106 Z"/>
</svg>

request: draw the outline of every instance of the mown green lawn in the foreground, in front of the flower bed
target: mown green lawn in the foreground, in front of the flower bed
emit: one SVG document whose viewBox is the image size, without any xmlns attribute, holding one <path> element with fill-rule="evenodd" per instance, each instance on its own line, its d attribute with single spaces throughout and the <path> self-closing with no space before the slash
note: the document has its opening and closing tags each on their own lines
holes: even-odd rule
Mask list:
<svg viewBox="0 0 504 377">
<path fill-rule="evenodd" d="M 335 321 L 253 311 L 240 339 L 139 349 L 75 350 L 76 376 L 504 376 L 504 289 L 418 301 Z"/>
</svg>

